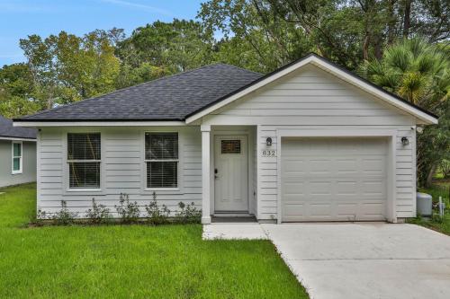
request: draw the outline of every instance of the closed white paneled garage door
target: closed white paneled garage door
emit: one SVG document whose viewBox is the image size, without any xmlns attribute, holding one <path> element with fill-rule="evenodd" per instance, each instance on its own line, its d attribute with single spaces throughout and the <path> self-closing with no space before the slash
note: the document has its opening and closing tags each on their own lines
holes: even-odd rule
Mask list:
<svg viewBox="0 0 450 299">
<path fill-rule="evenodd" d="M 387 148 L 383 138 L 283 138 L 283 221 L 384 220 Z"/>
</svg>

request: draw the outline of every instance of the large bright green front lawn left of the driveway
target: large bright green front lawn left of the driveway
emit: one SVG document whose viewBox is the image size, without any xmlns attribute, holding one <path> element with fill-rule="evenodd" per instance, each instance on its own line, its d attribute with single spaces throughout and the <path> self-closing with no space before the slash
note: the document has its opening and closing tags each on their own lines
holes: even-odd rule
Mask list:
<svg viewBox="0 0 450 299">
<path fill-rule="evenodd" d="M 35 185 L 0 190 L 1 298 L 307 298 L 268 241 L 202 226 L 25 228 Z"/>
</svg>

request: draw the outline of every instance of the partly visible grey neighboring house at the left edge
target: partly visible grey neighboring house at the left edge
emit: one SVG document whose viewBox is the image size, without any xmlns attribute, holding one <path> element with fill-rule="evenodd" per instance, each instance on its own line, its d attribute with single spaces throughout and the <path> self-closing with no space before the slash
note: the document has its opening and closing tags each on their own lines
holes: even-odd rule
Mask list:
<svg viewBox="0 0 450 299">
<path fill-rule="evenodd" d="M 36 181 L 36 134 L 0 116 L 0 187 Z"/>
</svg>

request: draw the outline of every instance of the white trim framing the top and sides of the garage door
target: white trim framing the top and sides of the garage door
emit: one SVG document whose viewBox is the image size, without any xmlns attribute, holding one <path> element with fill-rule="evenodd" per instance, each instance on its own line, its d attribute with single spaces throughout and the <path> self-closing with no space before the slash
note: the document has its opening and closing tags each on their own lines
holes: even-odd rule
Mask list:
<svg viewBox="0 0 450 299">
<path fill-rule="evenodd" d="M 277 222 L 282 223 L 282 138 L 283 137 L 388 137 L 388 157 L 387 157 L 387 211 L 386 217 L 389 222 L 397 222 L 395 213 L 395 163 L 396 163 L 396 131 L 395 130 L 378 130 L 378 129 L 327 129 L 320 130 L 314 128 L 305 129 L 277 129 L 276 130 L 276 150 L 277 150 Z"/>
</svg>

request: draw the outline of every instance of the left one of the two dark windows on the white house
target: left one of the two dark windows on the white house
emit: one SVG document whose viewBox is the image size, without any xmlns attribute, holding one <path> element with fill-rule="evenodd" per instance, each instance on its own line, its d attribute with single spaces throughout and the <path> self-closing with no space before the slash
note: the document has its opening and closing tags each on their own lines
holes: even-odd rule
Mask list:
<svg viewBox="0 0 450 299">
<path fill-rule="evenodd" d="M 100 133 L 67 134 L 70 189 L 100 189 L 100 163 Z"/>
</svg>

